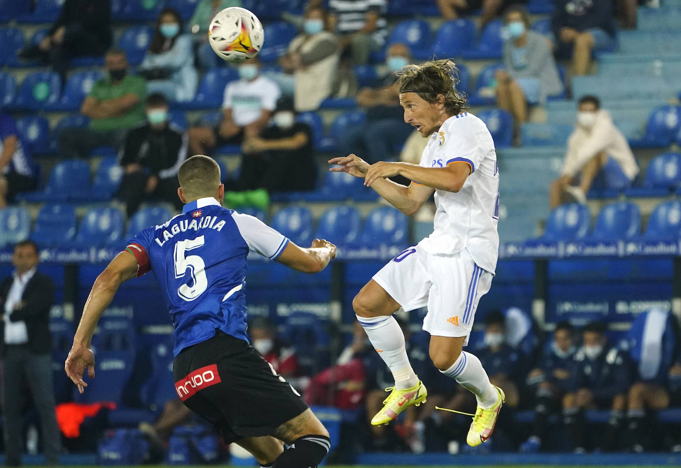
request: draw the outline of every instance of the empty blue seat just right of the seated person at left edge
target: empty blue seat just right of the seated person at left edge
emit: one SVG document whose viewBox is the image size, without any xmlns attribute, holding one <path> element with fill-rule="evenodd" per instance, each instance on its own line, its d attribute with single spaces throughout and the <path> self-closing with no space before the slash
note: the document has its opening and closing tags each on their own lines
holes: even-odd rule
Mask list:
<svg viewBox="0 0 681 468">
<path fill-rule="evenodd" d="M 19 195 L 26 201 L 76 201 L 91 193 L 90 167 L 80 159 L 61 161 L 52 169 L 42 192 Z"/>
</svg>

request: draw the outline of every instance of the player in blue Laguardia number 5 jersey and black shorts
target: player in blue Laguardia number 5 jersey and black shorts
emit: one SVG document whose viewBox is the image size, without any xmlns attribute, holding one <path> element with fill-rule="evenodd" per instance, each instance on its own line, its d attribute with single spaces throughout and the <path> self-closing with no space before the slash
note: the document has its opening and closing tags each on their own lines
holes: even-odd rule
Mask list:
<svg viewBox="0 0 681 468">
<path fill-rule="evenodd" d="M 315 467 L 330 448 L 328 432 L 248 341 L 247 255 L 253 250 L 316 273 L 334 258 L 336 247 L 315 239 L 311 248 L 300 248 L 257 218 L 223 208 L 220 169 L 208 156 L 187 159 L 178 178 L 183 213 L 138 233 L 97 277 L 66 373 L 82 393 L 85 369 L 95 377 L 89 346 L 99 317 L 123 282 L 153 270 L 175 328 L 173 372 L 180 400 L 261 465 Z"/>
</svg>

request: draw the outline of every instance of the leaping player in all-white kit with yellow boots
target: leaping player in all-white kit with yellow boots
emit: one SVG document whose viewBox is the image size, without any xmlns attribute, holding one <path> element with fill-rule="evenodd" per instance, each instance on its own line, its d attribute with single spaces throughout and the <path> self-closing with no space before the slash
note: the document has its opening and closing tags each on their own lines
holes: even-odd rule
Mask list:
<svg viewBox="0 0 681 468">
<path fill-rule="evenodd" d="M 354 154 L 329 163 L 340 166 L 332 171 L 364 178 L 364 185 L 407 215 L 435 193 L 433 233 L 385 265 L 353 300 L 357 319 L 395 378 L 371 423 L 387 424 L 406 407 L 426 401 L 426 387 L 411 369 L 392 314 L 427 305 L 423 328 L 431 335 L 432 362 L 477 398 L 466 441 L 478 446 L 492 435 L 505 395 L 462 347 L 496 267 L 499 175 L 492 136 L 482 120 L 466 112 L 466 97 L 455 87 L 457 73 L 449 60 L 409 65 L 398 73 L 405 122 L 429 138 L 419 165 L 368 165 Z M 396 184 L 387 179 L 393 175 L 413 182 Z"/>
</svg>

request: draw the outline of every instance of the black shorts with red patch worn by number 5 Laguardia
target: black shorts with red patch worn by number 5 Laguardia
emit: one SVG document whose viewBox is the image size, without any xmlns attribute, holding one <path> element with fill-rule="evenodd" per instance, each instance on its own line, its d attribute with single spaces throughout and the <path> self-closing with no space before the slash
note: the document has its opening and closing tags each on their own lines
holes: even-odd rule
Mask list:
<svg viewBox="0 0 681 468">
<path fill-rule="evenodd" d="M 225 444 L 270 435 L 307 410 L 253 346 L 221 331 L 180 352 L 173 374 L 178 397 L 211 422 Z"/>
</svg>

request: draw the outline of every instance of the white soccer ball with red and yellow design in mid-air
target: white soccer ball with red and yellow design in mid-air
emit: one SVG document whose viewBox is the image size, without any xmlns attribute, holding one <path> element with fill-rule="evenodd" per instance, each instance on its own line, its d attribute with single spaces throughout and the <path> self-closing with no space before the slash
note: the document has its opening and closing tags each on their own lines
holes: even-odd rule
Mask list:
<svg viewBox="0 0 681 468">
<path fill-rule="evenodd" d="M 260 20 L 245 8 L 229 7 L 215 15 L 208 27 L 208 42 L 227 62 L 253 59 L 265 39 Z"/>
</svg>

